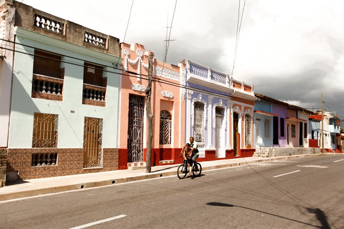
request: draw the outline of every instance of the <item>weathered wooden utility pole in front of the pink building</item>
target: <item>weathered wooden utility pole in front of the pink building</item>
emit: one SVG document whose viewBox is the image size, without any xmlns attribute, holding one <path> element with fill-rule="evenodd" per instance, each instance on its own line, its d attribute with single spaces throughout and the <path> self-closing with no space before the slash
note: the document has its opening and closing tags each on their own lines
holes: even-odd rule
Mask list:
<svg viewBox="0 0 344 229">
<path fill-rule="evenodd" d="M 153 115 L 150 107 L 151 79 L 153 74 L 153 54 L 148 58 L 148 85 L 146 89 L 146 116 L 147 116 L 147 154 L 146 154 L 146 173 L 151 171 L 151 141 L 153 138 Z"/>
</svg>

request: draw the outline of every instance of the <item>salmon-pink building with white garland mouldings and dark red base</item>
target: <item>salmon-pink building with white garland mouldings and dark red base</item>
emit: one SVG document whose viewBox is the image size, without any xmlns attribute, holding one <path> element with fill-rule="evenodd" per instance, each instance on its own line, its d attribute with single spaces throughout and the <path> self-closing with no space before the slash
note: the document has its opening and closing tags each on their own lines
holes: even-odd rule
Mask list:
<svg viewBox="0 0 344 229">
<path fill-rule="evenodd" d="M 143 45 L 122 44 L 122 88 L 119 169 L 144 166 L 146 161 L 148 56 Z M 153 138 L 151 165 L 179 163 L 184 144 L 185 106 L 180 88 L 180 67 L 153 58 L 151 110 Z M 181 141 L 182 140 L 182 141 Z M 177 160 L 177 161 L 176 161 Z"/>
</svg>

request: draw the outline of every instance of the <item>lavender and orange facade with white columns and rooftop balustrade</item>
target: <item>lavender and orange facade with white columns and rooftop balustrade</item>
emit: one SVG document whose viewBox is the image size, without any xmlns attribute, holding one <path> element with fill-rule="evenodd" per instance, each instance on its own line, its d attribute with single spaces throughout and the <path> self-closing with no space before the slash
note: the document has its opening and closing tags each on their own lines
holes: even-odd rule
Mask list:
<svg viewBox="0 0 344 229">
<path fill-rule="evenodd" d="M 194 137 L 199 161 L 248 157 L 254 153 L 253 86 L 184 60 L 185 142 Z"/>
</svg>

